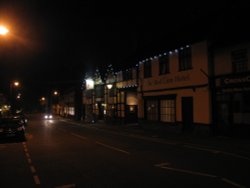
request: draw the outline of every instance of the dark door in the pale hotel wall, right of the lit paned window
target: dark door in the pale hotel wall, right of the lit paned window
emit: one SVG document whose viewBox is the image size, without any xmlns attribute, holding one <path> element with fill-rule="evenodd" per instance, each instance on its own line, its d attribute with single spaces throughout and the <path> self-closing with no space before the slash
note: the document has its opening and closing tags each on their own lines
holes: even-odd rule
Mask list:
<svg viewBox="0 0 250 188">
<path fill-rule="evenodd" d="M 191 132 L 193 125 L 193 97 L 182 97 L 182 123 L 183 131 Z"/>
</svg>

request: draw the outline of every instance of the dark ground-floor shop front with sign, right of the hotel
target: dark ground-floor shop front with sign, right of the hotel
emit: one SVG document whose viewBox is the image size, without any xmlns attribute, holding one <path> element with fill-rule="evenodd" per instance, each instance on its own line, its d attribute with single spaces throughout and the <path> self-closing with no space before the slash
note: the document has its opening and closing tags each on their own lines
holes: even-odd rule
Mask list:
<svg viewBox="0 0 250 188">
<path fill-rule="evenodd" d="M 250 72 L 216 78 L 216 119 L 222 134 L 250 130 Z"/>
</svg>

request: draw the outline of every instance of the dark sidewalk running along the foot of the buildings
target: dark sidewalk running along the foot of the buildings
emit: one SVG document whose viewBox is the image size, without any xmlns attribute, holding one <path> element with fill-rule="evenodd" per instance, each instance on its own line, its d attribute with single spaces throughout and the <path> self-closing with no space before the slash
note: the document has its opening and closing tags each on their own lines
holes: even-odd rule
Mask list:
<svg viewBox="0 0 250 188">
<path fill-rule="evenodd" d="M 72 120 L 71 120 L 72 121 Z M 250 139 L 249 138 L 233 138 L 225 136 L 200 136 L 192 133 L 172 133 L 167 132 L 162 126 L 141 126 L 138 124 L 106 124 L 105 122 L 85 123 L 76 121 L 88 128 L 97 128 L 101 130 L 115 131 L 145 137 L 148 139 L 157 139 L 160 141 L 174 141 L 181 144 L 189 144 L 195 147 L 206 147 L 211 149 L 224 150 L 228 152 L 236 152 L 244 154 L 250 160 Z"/>
</svg>

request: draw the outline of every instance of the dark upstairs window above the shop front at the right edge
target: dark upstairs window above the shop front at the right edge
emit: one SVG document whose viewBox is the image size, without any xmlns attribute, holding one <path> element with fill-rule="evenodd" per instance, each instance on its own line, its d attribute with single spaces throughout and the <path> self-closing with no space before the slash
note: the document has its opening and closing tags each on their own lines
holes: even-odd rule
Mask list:
<svg viewBox="0 0 250 188">
<path fill-rule="evenodd" d="M 231 60 L 233 64 L 233 71 L 235 73 L 245 72 L 248 70 L 248 58 L 246 49 L 240 49 L 231 52 Z"/>
</svg>

